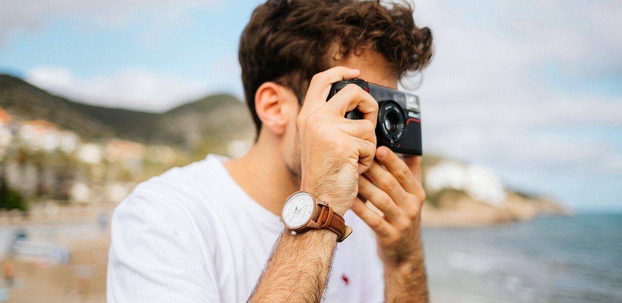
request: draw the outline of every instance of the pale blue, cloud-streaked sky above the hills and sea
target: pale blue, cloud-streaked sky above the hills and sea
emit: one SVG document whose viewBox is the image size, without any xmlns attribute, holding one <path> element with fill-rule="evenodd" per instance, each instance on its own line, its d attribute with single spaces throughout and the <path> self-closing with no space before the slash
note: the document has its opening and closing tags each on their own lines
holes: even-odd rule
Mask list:
<svg viewBox="0 0 622 303">
<path fill-rule="evenodd" d="M 241 99 L 239 35 L 259 2 L 3 0 L 0 72 L 143 111 Z M 414 2 L 435 45 L 402 81 L 420 96 L 424 153 L 578 212 L 622 212 L 622 2 Z"/>
</svg>

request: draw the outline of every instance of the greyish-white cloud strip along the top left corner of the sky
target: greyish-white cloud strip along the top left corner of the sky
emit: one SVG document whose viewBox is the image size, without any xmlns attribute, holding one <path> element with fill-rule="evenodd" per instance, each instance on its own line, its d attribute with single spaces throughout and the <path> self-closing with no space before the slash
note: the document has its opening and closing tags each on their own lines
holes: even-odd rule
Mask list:
<svg viewBox="0 0 622 303">
<path fill-rule="evenodd" d="M 0 45 L 19 31 L 32 32 L 54 17 L 74 17 L 83 24 L 119 27 L 139 18 L 147 24 L 179 22 L 187 12 L 222 6 L 221 0 L 3 0 L 0 9 Z"/>
</svg>

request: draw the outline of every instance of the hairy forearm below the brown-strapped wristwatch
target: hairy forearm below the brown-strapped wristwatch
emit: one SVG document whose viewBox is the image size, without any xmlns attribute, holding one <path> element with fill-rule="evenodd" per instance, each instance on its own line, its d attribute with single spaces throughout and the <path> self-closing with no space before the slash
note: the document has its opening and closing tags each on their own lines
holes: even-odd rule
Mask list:
<svg viewBox="0 0 622 303">
<path fill-rule="evenodd" d="M 320 302 L 336 243 L 330 230 L 282 233 L 249 302 Z"/>
</svg>

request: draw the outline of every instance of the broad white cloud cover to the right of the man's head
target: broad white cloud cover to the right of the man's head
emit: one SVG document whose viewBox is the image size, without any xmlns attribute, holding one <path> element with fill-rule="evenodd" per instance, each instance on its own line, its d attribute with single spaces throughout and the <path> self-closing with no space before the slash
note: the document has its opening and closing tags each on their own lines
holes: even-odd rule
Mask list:
<svg viewBox="0 0 622 303">
<path fill-rule="evenodd" d="M 550 132 L 622 128 L 621 14 L 620 1 L 416 2 L 415 22 L 435 39 L 415 91 L 425 150 L 505 176 L 577 168 L 580 178 L 621 177 L 610 138 Z"/>
</svg>

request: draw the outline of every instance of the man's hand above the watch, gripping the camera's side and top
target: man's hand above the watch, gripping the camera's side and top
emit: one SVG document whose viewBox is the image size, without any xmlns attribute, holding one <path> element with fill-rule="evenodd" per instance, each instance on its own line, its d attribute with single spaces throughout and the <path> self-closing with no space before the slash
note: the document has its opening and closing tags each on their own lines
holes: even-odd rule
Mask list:
<svg viewBox="0 0 622 303">
<path fill-rule="evenodd" d="M 326 99 L 333 83 L 359 74 L 359 70 L 337 66 L 313 76 L 297 120 L 300 189 L 327 202 L 340 215 L 355 201 L 358 176 L 374 160 L 378 102 L 356 84 Z M 355 108 L 364 119 L 345 118 Z"/>
</svg>

